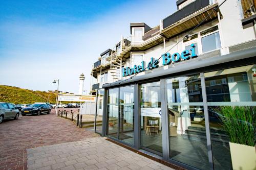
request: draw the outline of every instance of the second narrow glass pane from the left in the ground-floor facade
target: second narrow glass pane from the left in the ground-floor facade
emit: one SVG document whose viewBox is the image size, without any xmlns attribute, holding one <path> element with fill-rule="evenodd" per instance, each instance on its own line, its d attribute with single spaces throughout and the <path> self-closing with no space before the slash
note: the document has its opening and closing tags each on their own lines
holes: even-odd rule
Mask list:
<svg viewBox="0 0 256 170">
<path fill-rule="evenodd" d="M 109 89 L 107 135 L 117 138 L 118 132 L 118 88 Z"/>
</svg>

